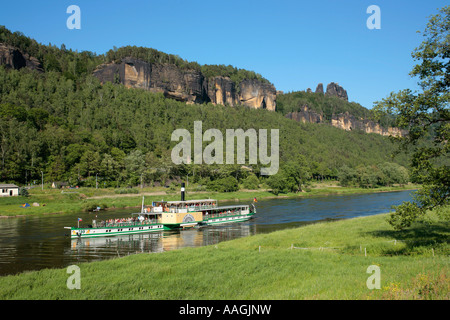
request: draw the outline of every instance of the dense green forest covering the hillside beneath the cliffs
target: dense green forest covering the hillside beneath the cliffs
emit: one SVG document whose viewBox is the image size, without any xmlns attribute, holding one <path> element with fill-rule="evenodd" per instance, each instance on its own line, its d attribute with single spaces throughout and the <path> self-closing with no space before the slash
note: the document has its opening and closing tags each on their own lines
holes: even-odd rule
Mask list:
<svg viewBox="0 0 450 320">
<path fill-rule="evenodd" d="M 135 47 L 105 55 L 78 53 L 64 46 L 38 44 L 1 27 L 0 43 L 36 57 L 44 69 L 38 72 L 0 66 L 2 182 L 40 183 L 43 174 L 46 182 L 95 186 L 97 179 L 101 187 L 126 187 L 188 178 L 212 190 L 231 191 L 238 185 L 254 188 L 266 183 L 275 192 L 286 192 L 302 190 L 317 179 L 342 179 L 346 184 L 365 187 L 408 180 L 406 155 L 392 158 L 397 146 L 380 135 L 298 123 L 282 112 L 188 105 L 141 89 L 102 85 L 92 76 L 100 63 L 117 59 L 124 52 L 133 56 L 135 51 L 129 48 Z M 156 53 L 147 58 L 154 59 Z M 176 56 L 161 57 L 169 59 L 164 63 L 197 68 L 195 63 Z M 254 72 L 238 72 L 241 69 L 233 67 L 199 68 L 211 75 L 267 81 Z M 293 108 L 287 99 L 281 106 L 285 111 Z M 320 101 L 317 106 L 328 112 Z M 171 141 L 171 134 L 178 128 L 193 133 L 194 121 L 202 121 L 203 131 L 216 128 L 224 136 L 226 129 L 233 128 L 279 129 L 280 170 L 274 176 L 261 176 L 260 165 L 174 165 L 171 150 L 178 142 Z M 204 142 L 206 145 L 208 142 Z M 371 170 L 375 173 L 367 178 Z M 349 172 L 352 178 L 348 178 Z"/>
</svg>

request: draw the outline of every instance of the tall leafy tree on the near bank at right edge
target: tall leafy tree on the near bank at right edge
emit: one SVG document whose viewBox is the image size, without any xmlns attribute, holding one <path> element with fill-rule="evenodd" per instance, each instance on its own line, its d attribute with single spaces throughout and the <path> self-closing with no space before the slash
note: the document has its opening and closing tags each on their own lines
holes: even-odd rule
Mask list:
<svg viewBox="0 0 450 320">
<path fill-rule="evenodd" d="M 423 184 L 413 202 L 395 208 L 390 224 L 397 230 L 449 204 L 450 195 L 450 6 L 431 16 L 423 33 L 425 40 L 412 57 L 419 61 L 410 75 L 419 78 L 421 92 L 402 90 L 377 102 L 378 114 L 395 117 L 395 125 L 409 134 L 400 139 L 411 151 L 412 179 Z"/>
</svg>

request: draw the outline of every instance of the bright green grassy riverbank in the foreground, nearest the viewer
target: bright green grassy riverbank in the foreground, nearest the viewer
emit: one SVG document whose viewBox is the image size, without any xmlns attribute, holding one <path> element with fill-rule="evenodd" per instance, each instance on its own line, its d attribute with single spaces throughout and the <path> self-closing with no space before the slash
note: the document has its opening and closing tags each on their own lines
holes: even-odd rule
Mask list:
<svg viewBox="0 0 450 320">
<path fill-rule="evenodd" d="M 400 232 L 386 215 L 322 222 L 80 263 L 79 290 L 67 288 L 65 268 L 0 277 L 0 300 L 448 300 L 449 236 L 448 221 L 435 216 Z M 370 289 L 375 269 L 380 286 Z"/>
</svg>

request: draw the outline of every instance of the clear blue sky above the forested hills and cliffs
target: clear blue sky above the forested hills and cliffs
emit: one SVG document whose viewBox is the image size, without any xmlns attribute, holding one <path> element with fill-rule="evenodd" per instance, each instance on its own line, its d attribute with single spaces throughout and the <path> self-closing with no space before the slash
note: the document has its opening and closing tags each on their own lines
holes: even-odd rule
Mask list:
<svg viewBox="0 0 450 320">
<path fill-rule="evenodd" d="M 69 5 L 81 9 L 70 30 Z M 446 1 L 404 0 L 45 0 L 2 4 L 0 25 L 38 42 L 98 54 L 136 45 L 200 64 L 253 70 L 284 92 L 337 82 L 349 101 L 371 108 L 392 91 L 416 88 L 409 77 L 428 18 Z M 381 29 L 370 30 L 370 5 Z"/>
</svg>

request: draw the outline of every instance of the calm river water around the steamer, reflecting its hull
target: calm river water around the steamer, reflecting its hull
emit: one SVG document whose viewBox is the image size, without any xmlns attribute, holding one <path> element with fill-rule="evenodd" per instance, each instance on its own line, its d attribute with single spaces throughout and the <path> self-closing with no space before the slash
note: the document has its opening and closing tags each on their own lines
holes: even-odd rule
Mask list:
<svg viewBox="0 0 450 320">
<path fill-rule="evenodd" d="M 64 227 L 90 224 L 92 213 L 0 219 L 0 276 L 27 270 L 63 268 L 72 264 L 122 257 L 140 252 L 163 252 L 298 227 L 318 221 L 386 213 L 392 205 L 411 200 L 411 191 L 267 199 L 256 203 L 255 218 L 239 223 L 183 231 L 160 231 L 92 239 L 68 237 Z M 220 202 L 232 205 L 235 202 Z M 129 216 L 136 209 L 108 210 L 98 219 Z"/>
</svg>

